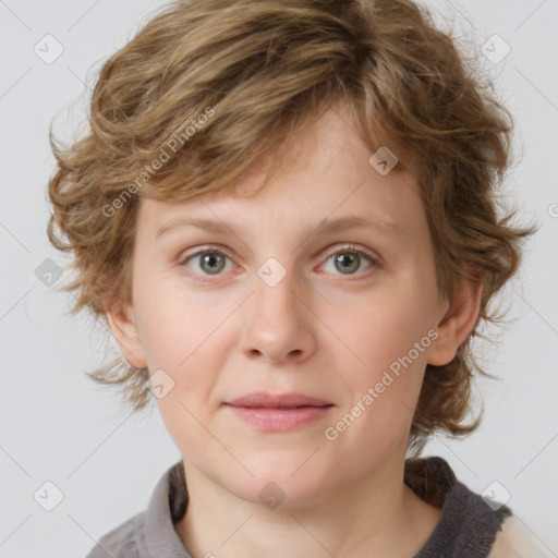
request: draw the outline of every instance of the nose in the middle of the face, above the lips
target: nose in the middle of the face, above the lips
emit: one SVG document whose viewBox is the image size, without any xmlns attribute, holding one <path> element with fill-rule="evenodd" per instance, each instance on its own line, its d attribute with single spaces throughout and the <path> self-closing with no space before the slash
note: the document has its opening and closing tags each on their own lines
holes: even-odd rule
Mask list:
<svg viewBox="0 0 558 558">
<path fill-rule="evenodd" d="M 262 275 L 265 278 L 265 275 Z M 287 272 L 277 284 L 255 277 L 244 311 L 241 349 L 250 359 L 300 363 L 316 348 L 315 314 L 308 290 Z"/>
</svg>

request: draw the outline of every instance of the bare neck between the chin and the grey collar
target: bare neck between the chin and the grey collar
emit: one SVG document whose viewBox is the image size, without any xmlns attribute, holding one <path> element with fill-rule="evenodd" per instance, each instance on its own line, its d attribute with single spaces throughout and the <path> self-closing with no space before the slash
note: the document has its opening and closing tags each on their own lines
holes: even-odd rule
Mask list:
<svg viewBox="0 0 558 558">
<path fill-rule="evenodd" d="M 184 470 L 189 507 L 175 530 L 196 558 L 408 558 L 440 517 L 403 483 L 403 466 L 398 474 L 384 468 L 364 483 L 325 487 L 312 505 L 274 510 L 236 497 L 185 460 Z"/>
</svg>

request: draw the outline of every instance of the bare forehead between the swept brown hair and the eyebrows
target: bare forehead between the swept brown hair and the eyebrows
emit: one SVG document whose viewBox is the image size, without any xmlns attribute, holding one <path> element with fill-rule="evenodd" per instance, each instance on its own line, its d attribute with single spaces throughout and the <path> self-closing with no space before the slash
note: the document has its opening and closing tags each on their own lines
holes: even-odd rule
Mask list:
<svg viewBox="0 0 558 558">
<path fill-rule="evenodd" d="M 228 222 L 239 228 L 242 222 L 243 229 L 265 226 L 284 230 L 289 225 L 303 233 L 332 220 L 344 219 L 348 225 L 351 216 L 397 232 L 417 225 L 422 204 L 408 168 L 408 154 L 395 142 L 383 148 L 399 161 L 389 172 L 380 173 L 377 157 L 374 159 L 350 117 L 329 110 L 278 151 L 278 171 L 263 190 L 269 161 L 259 159 L 220 192 L 185 204 L 142 201 L 141 213 L 148 214 L 142 221 L 148 221 L 156 235 L 186 215 L 206 223 L 214 221 L 215 230 Z"/>
</svg>

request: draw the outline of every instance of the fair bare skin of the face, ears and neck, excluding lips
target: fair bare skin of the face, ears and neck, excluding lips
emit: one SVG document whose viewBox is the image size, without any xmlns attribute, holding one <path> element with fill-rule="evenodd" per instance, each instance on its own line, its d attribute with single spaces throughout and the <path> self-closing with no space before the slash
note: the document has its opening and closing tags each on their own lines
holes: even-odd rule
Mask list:
<svg viewBox="0 0 558 558">
<path fill-rule="evenodd" d="M 174 381 L 157 404 L 184 461 L 190 504 L 175 529 L 195 558 L 410 557 L 440 517 L 403 483 L 409 430 L 426 364 L 453 359 L 481 287 L 461 280 L 453 300 L 439 295 L 412 172 L 380 175 L 348 119 L 330 110 L 300 132 L 293 147 L 307 156 L 257 195 L 248 194 L 260 170 L 186 204 L 141 201 L 133 302 L 108 319 L 131 364 Z M 317 230 L 348 215 L 400 230 Z M 181 216 L 229 229 L 190 226 L 156 239 Z M 332 257 L 348 243 L 362 251 L 350 270 Z M 199 256 L 185 259 L 211 247 L 227 255 L 217 275 Z M 275 287 L 257 275 L 269 257 L 286 271 Z M 325 429 L 429 330 L 437 338 L 412 365 L 328 440 Z M 262 432 L 223 405 L 257 390 L 335 407 L 295 430 Z M 258 497 L 270 482 L 284 494 L 276 509 Z"/>
</svg>

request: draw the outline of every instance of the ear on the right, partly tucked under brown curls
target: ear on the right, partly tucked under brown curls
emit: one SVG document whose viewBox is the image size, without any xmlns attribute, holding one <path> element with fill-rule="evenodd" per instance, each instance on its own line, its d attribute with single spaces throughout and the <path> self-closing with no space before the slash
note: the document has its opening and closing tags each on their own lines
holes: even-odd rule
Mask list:
<svg viewBox="0 0 558 558">
<path fill-rule="evenodd" d="M 449 364 L 454 359 L 459 345 L 473 330 L 481 308 L 483 278 L 484 272 L 480 272 L 475 280 L 456 279 L 453 298 L 449 307 L 447 300 L 445 304 L 440 305 L 442 312 L 446 307 L 447 311 L 436 327 L 438 338 L 430 345 L 428 364 L 435 366 Z"/>
</svg>

